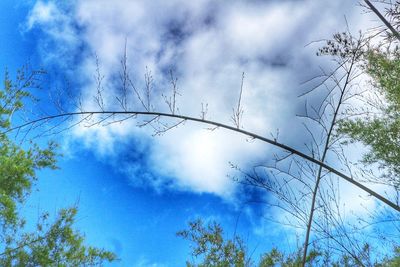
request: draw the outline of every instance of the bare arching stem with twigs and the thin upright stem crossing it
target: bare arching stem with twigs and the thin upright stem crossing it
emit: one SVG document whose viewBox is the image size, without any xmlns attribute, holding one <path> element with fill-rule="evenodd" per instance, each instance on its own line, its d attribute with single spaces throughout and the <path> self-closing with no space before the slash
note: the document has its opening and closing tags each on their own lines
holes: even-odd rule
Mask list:
<svg viewBox="0 0 400 267">
<path fill-rule="evenodd" d="M 370 5 L 369 1 L 365 2 Z M 376 9 L 373 10 L 374 12 L 376 11 Z M 391 27 L 390 29 L 391 31 L 393 31 L 393 27 Z M 326 95 L 327 101 L 323 101 L 320 106 L 322 112 L 315 112 L 315 114 L 313 114 L 315 116 L 308 116 L 306 114 L 309 119 L 312 119 L 321 124 L 322 130 L 324 132 L 322 143 L 319 144 L 319 140 L 313 141 L 314 144 L 313 146 L 311 146 L 308 153 L 293 149 L 285 144 L 278 142 L 276 139 L 265 138 L 254 133 L 245 131 L 241 125 L 241 115 L 243 113 L 243 109 L 241 106 L 241 95 L 243 88 L 241 88 L 240 90 L 237 107 L 234 108 L 232 116 L 233 126 L 207 120 L 204 110 L 202 110 L 202 115 L 200 116 L 200 118 L 180 115 L 176 106 L 176 96 L 178 95 L 176 79 L 172 75 L 172 94 L 170 97 L 163 96 L 165 99 L 165 103 L 168 107 L 168 112 L 157 111 L 152 103 L 153 92 L 151 74 L 147 72 L 145 75 L 145 89 L 143 91 L 138 90 L 133 85 L 129 77 L 126 53 L 121 60 L 122 71 L 120 73 L 121 86 L 119 95 L 115 97 L 119 104 L 119 109 L 107 109 L 108 107 L 105 106 L 105 101 L 103 101 L 104 98 L 102 95 L 103 87 L 101 84 L 103 77 L 100 75 L 99 70 L 97 70 L 97 94 L 93 97 L 95 103 L 98 106 L 98 110 L 84 110 L 81 106 L 77 105 L 78 110 L 65 111 L 61 107 L 58 110 L 57 114 L 50 114 L 45 115 L 41 118 L 31 119 L 26 123 L 23 123 L 15 128 L 10 128 L 6 131 L 10 132 L 12 130 L 20 130 L 24 132 L 25 130 L 25 133 L 29 134 L 31 127 L 38 127 L 42 123 L 48 122 L 49 120 L 68 120 L 69 118 L 75 116 L 78 116 L 79 120 L 74 123 L 83 123 L 89 127 L 93 125 L 107 125 L 117 122 L 119 123 L 123 122 L 124 120 L 131 119 L 132 117 L 137 118 L 138 116 L 147 116 L 149 117 L 149 119 L 139 120 L 138 125 L 142 127 L 153 127 L 155 134 L 163 134 L 177 127 L 178 125 L 185 123 L 186 121 L 195 121 L 199 123 L 209 124 L 215 127 L 229 129 L 249 136 L 251 138 L 262 140 L 266 143 L 277 146 L 287 152 L 282 157 L 276 159 L 276 164 L 283 162 L 283 160 L 286 158 L 290 158 L 292 160 L 290 162 L 293 164 L 288 165 L 295 166 L 295 168 L 291 169 L 289 167 L 285 170 L 282 169 L 281 166 L 272 166 L 275 171 L 279 172 L 279 175 L 268 173 L 270 177 L 262 177 L 261 175 L 259 175 L 259 172 L 257 172 L 257 169 L 255 168 L 253 172 L 243 172 L 244 179 L 242 180 L 242 182 L 245 182 L 251 186 L 257 186 L 259 188 L 262 188 L 263 190 L 274 193 L 276 195 L 277 202 L 273 203 L 273 205 L 279 206 L 280 208 L 293 215 L 293 217 L 297 219 L 299 225 L 306 229 L 302 264 L 305 265 L 306 255 L 308 254 L 307 249 L 308 246 L 310 246 L 312 243 L 310 241 L 310 233 L 311 231 L 314 231 L 319 234 L 319 237 L 322 240 L 329 240 L 329 242 L 334 242 L 337 245 L 337 247 L 335 247 L 334 249 L 339 250 L 340 253 L 345 252 L 349 254 L 354 262 L 363 266 L 364 263 L 362 262 L 362 260 L 370 259 L 368 257 L 360 257 L 361 254 L 365 254 L 364 244 L 363 242 L 355 242 L 352 234 L 349 234 L 349 227 L 344 223 L 342 210 L 338 205 L 340 203 L 340 196 L 338 195 L 339 189 L 338 186 L 336 186 L 335 184 L 336 180 L 334 179 L 334 176 L 332 176 L 331 174 L 335 174 L 352 183 L 353 185 L 361 188 L 368 194 L 376 197 L 378 200 L 387 204 L 396 211 L 400 211 L 400 207 L 398 205 L 398 202 L 391 201 L 381 194 L 378 194 L 374 190 L 366 187 L 364 184 L 360 183 L 357 177 L 355 177 L 351 173 L 351 168 L 348 168 L 351 174 L 345 175 L 343 171 L 338 171 L 332 168 L 330 165 L 327 165 L 326 155 L 328 152 L 337 153 L 338 158 L 344 161 L 345 167 L 349 167 L 349 165 L 347 165 L 348 162 L 343 157 L 343 153 L 338 153 L 338 149 L 335 150 L 335 147 L 333 147 L 333 145 L 338 144 L 338 139 L 336 138 L 334 133 L 335 127 L 337 125 L 337 119 L 340 113 L 339 111 L 341 105 L 343 104 L 343 101 L 354 96 L 354 94 L 348 95 L 347 92 L 353 78 L 357 77 L 359 74 L 354 72 L 354 70 L 360 71 L 360 68 L 356 66 L 356 63 L 358 64 L 360 61 L 362 61 L 362 57 L 360 54 L 362 54 L 364 52 L 363 49 L 365 47 L 368 47 L 368 45 L 370 44 L 369 40 L 370 39 L 366 39 L 364 41 L 362 38 L 353 38 L 353 36 L 346 35 L 346 33 L 336 34 L 333 41 L 328 41 L 325 50 L 321 50 L 321 53 L 329 54 L 335 58 L 336 62 L 338 63 L 338 68 L 334 71 L 333 74 L 323 73 L 325 79 L 321 84 L 326 85 L 325 82 L 329 80 L 331 82 L 331 87 L 329 87 L 328 94 Z M 338 72 L 341 72 L 342 75 L 337 75 Z M 338 98 L 334 97 L 335 92 L 339 92 L 339 94 L 337 94 L 339 95 Z M 129 106 L 128 99 L 129 96 L 132 95 L 136 96 L 137 100 L 139 100 L 142 108 L 141 110 L 131 109 L 131 107 Z M 326 112 L 327 107 L 332 108 L 330 112 Z M 328 117 L 325 117 L 326 115 Z M 175 120 L 171 123 L 170 120 L 163 120 L 163 118 L 172 118 Z M 74 123 L 72 124 L 72 126 L 74 125 Z M 72 126 L 67 125 L 66 129 Z M 50 127 L 50 129 L 46 130 L 46 132 L 51 133 L 54 129 L 55 127 Z M 311 133 L 311 136 L 315 140 L 315 136 L 313 135 L 313 133 Z M 337 146 L 336 148 L 340 148 L 340 146 Z M 387 149 L 384 150 L 384 152 L 387 151 Z M 300 157 L 300 160 L 297 156 Z M 285 167 L 287 167 L 287 165 Z M 261 166 L 261 168 L 258 169 L 269 170 L 271 169 L 271 166 Z M 240 171 L 239 168 L 238 170 Z M 273 177 L 273 179 L 271 179 L 271 177 Z M 325 177 L 328 178 L 325 179 Z M 295 192 L 295 190 L 293 190 L 293 184 L 303 185 L 304 190 L 300 190 L 300 192 Z M 329 246 L 329 244 L 327 244 L 327 246 Z"/>
</svg>

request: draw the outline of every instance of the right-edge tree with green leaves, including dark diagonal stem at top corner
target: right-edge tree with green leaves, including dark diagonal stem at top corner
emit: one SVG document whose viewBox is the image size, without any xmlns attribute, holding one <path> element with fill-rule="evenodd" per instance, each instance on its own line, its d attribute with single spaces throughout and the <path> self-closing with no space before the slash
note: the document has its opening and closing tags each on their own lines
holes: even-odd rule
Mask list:
<svg viewBox="0 0 400 267">
<path fill-rule="evenodd" d="M 384 33 L 383 40 L 377 45 L 370 45 L 364 57 L 363 68 L 372 85 L 372 96 L 364 95 L 362 98 L 366 111 L 350 110 L 352 117 L 340 122 L 339 133 L 349 137 L 351 143 L 358 141 L 369 147 L 370 151 L 364 155 L 362 163 L 364 166 L 378 164 L 384 170 L 379 177 L 372 177 L 373 182 L 388 184 L 398 192 L 400 34 L 397 29 L 400 25 L 400 3 L 382 1 L 386 5 L 388 20 L 370 1 L 365 0 L 365 3 L 387 28 L 379 30 Z"/>
</svg>

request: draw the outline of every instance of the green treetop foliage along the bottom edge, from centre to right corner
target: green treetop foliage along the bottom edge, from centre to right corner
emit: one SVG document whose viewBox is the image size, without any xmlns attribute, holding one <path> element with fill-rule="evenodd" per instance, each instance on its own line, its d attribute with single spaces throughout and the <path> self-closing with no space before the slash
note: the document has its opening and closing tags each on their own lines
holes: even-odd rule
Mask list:
<svg viewBox="0 0 400 267">
<path fill-rule="evenodd" d="M 302 266 L 302 250 L 294 253 L 283 253 L 277 248 L 261 255 L 257 265 L 246 254 L 246 244 L 239 236 L 233 240 L 224 239 L 222 227 L 211 222 L 204 225 L 201 219 L 189 222 L 189 229 L 180 231 L 178 236 L 192 243 L 191 256 L 193 261 L 187 261 L 187 267 L 299 267 Z M 318 248 L 312 249 L 306 258 L 306 266 L 374 266 L 374 267 L 396 267 L 400 263 L 400 248 L 394 249 L 394 254 L 383 260 L 371 259 L 370 246 L 365 244 L 362 252 L 357 257 L 341 254 L 339 257 L 331 257 L 328 251 Z M 194 263 L 197 260 L 198 263 Z"/>
</svg>

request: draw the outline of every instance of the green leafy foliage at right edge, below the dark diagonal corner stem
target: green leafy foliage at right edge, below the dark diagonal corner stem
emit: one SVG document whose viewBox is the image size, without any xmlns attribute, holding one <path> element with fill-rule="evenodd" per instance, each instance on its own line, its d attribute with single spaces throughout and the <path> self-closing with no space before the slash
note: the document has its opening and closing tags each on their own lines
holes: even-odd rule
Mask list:
<svg viewBox="0 0 400 267">
<path fill-rule="evenodd" d="M 352 141 L 370 147 L 364 156 L 366 164 L 379 163 L 388 171 L 385 176 L 400 174 L 400 57 L 395 53 L 371 51 L 367 56 L 366 72 L 383 98 L 379 113 L 341 122 L 339 131 Z M 399 185 L 399 181 L 396 182 Z"/>
</svg>

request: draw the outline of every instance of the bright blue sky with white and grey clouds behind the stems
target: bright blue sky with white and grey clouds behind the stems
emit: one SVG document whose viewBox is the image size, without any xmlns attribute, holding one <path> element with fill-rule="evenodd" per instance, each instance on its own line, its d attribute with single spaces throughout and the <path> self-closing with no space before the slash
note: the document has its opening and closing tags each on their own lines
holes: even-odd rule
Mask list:
<svg viewBox="0 0 400 267">
<path fill-rule="evenodd" d="M 3 0 L 0 7 L 0 66 L 13 72 L 29 60 L 46 69 L 43 96 L 68 84 L 84 109 L 98 109 L 98 66 L 105 107 L 118 108 L 126 47 L 137 88 L 151 71 L 157 110 L 168 110 L 160 96 L 171 94 L 172 71 L 180 114 L 199 117 L 203 105 L 208 119 L 232 124 L 244 72 L 244 129 L 266 136 L 279 129 L 280 140 L 299 149 L 306 141 L 295 116 L 304 105 L 297 98 L 306 90 L 301 84 L 332 66 L 315 56 L 314 41 L 344 29 L 346 21 L 354 32 L 375 23 L 346 0 Z M 142 108 L 130 100 L 130 109 Z M 112 266 L 183 266 L 189 243 L 175 233 L 198 217 L 220 222 L 228 235 L 237 228 L 258 254 L 282 240 L 293 246 L 285 227 L 265 221 L 271 211 L 246 204 L 252 192 L 234 182 L 238 173 L 229 165 L 254 166 L 274 150 L 206 128 L 187 122 L 153 136 L 134 120 L 75 127 L 56 137 L 64 155 L 60 169 L 39 173 L 25 212 L 34 218 L 78 203 L 78 228 L 88 243 L 117 253 L 120 261 Z M 349 206 L 357 210 L 360 203 Z"/>
</svg>

